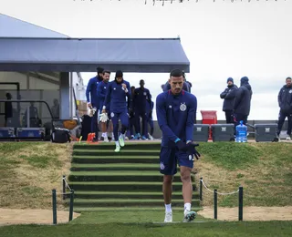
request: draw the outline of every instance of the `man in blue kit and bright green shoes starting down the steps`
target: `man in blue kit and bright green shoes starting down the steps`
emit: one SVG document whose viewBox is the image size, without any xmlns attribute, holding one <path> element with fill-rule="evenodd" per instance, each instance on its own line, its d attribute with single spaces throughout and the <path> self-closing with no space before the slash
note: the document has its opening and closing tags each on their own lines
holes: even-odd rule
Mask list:
<svg viewBox="0 0 292 237">
<path fill-rule="evenodd" d="M 116 152 L 120 151 L 120 147 L 125 146 L 125 133 L 129 122 L 127 98 L 131 101 L 130 83 L 125 81 L 122 76 L 122 71 L 118 70 L 116 72 L 115 80 L 109 83 L 107 95 L 102 108 L 102 113 L 106 113 L 107 106 L 110 103 L 110 118 L 113 125 Z M 119 118 L 121 123 L 120 137 L 118 137 Z"/>
</svg>

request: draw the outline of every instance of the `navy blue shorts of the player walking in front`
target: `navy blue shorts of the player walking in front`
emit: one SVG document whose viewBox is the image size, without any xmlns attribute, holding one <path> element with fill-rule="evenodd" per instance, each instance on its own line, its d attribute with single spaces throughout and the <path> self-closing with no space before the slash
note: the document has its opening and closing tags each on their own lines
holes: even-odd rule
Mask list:
<svg viewBox="0 0 292 237">
<path fill-rule="evenodd" d="M 163 148 L 160 154 L 161 173 L 174 175 L 177 173 L 177 163 L 179 166 L 186 166 L 193 169 L 193 155 L 177 148 Z"/>
</svg>

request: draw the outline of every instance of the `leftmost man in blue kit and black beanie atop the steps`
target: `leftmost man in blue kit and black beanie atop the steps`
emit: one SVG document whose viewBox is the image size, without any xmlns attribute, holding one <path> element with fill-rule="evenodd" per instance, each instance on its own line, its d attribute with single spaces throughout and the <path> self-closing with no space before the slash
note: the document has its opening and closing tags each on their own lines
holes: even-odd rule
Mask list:
<svg viewBox="0 0 292 237">
<path fill-rule="evenodd" d="M 89 108 L 95 108 L 96 112 L 91 118 L 91 132 L 96 134 L 96 139 L 99 138 L 98 131 L 98 111 L 99 111 L 99 97 L 98 97 L 98 85 L 103 80 L 102 72 L 103 68 L 97 68 L 98 75 L 89 79 L 88 87 L 86 88 L 86 99 L 88 101 Z M 90 95 L 90 96 L 89 96 Z"/>
</svg>

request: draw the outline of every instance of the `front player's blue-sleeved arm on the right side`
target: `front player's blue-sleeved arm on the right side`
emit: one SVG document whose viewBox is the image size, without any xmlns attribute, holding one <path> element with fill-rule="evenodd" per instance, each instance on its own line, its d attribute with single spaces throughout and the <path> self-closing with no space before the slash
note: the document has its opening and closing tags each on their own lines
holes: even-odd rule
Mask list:
<svg viewBox="0 0 292 237">
<path fill-rule="evenodd" d="M 186 143 L 193 141 L 193 124 L 197 113 L 197 98 L 191 98 L 190 108 L 188 109 L 188 117 L 185 124 L 185 139 Z"/>
</svg>

